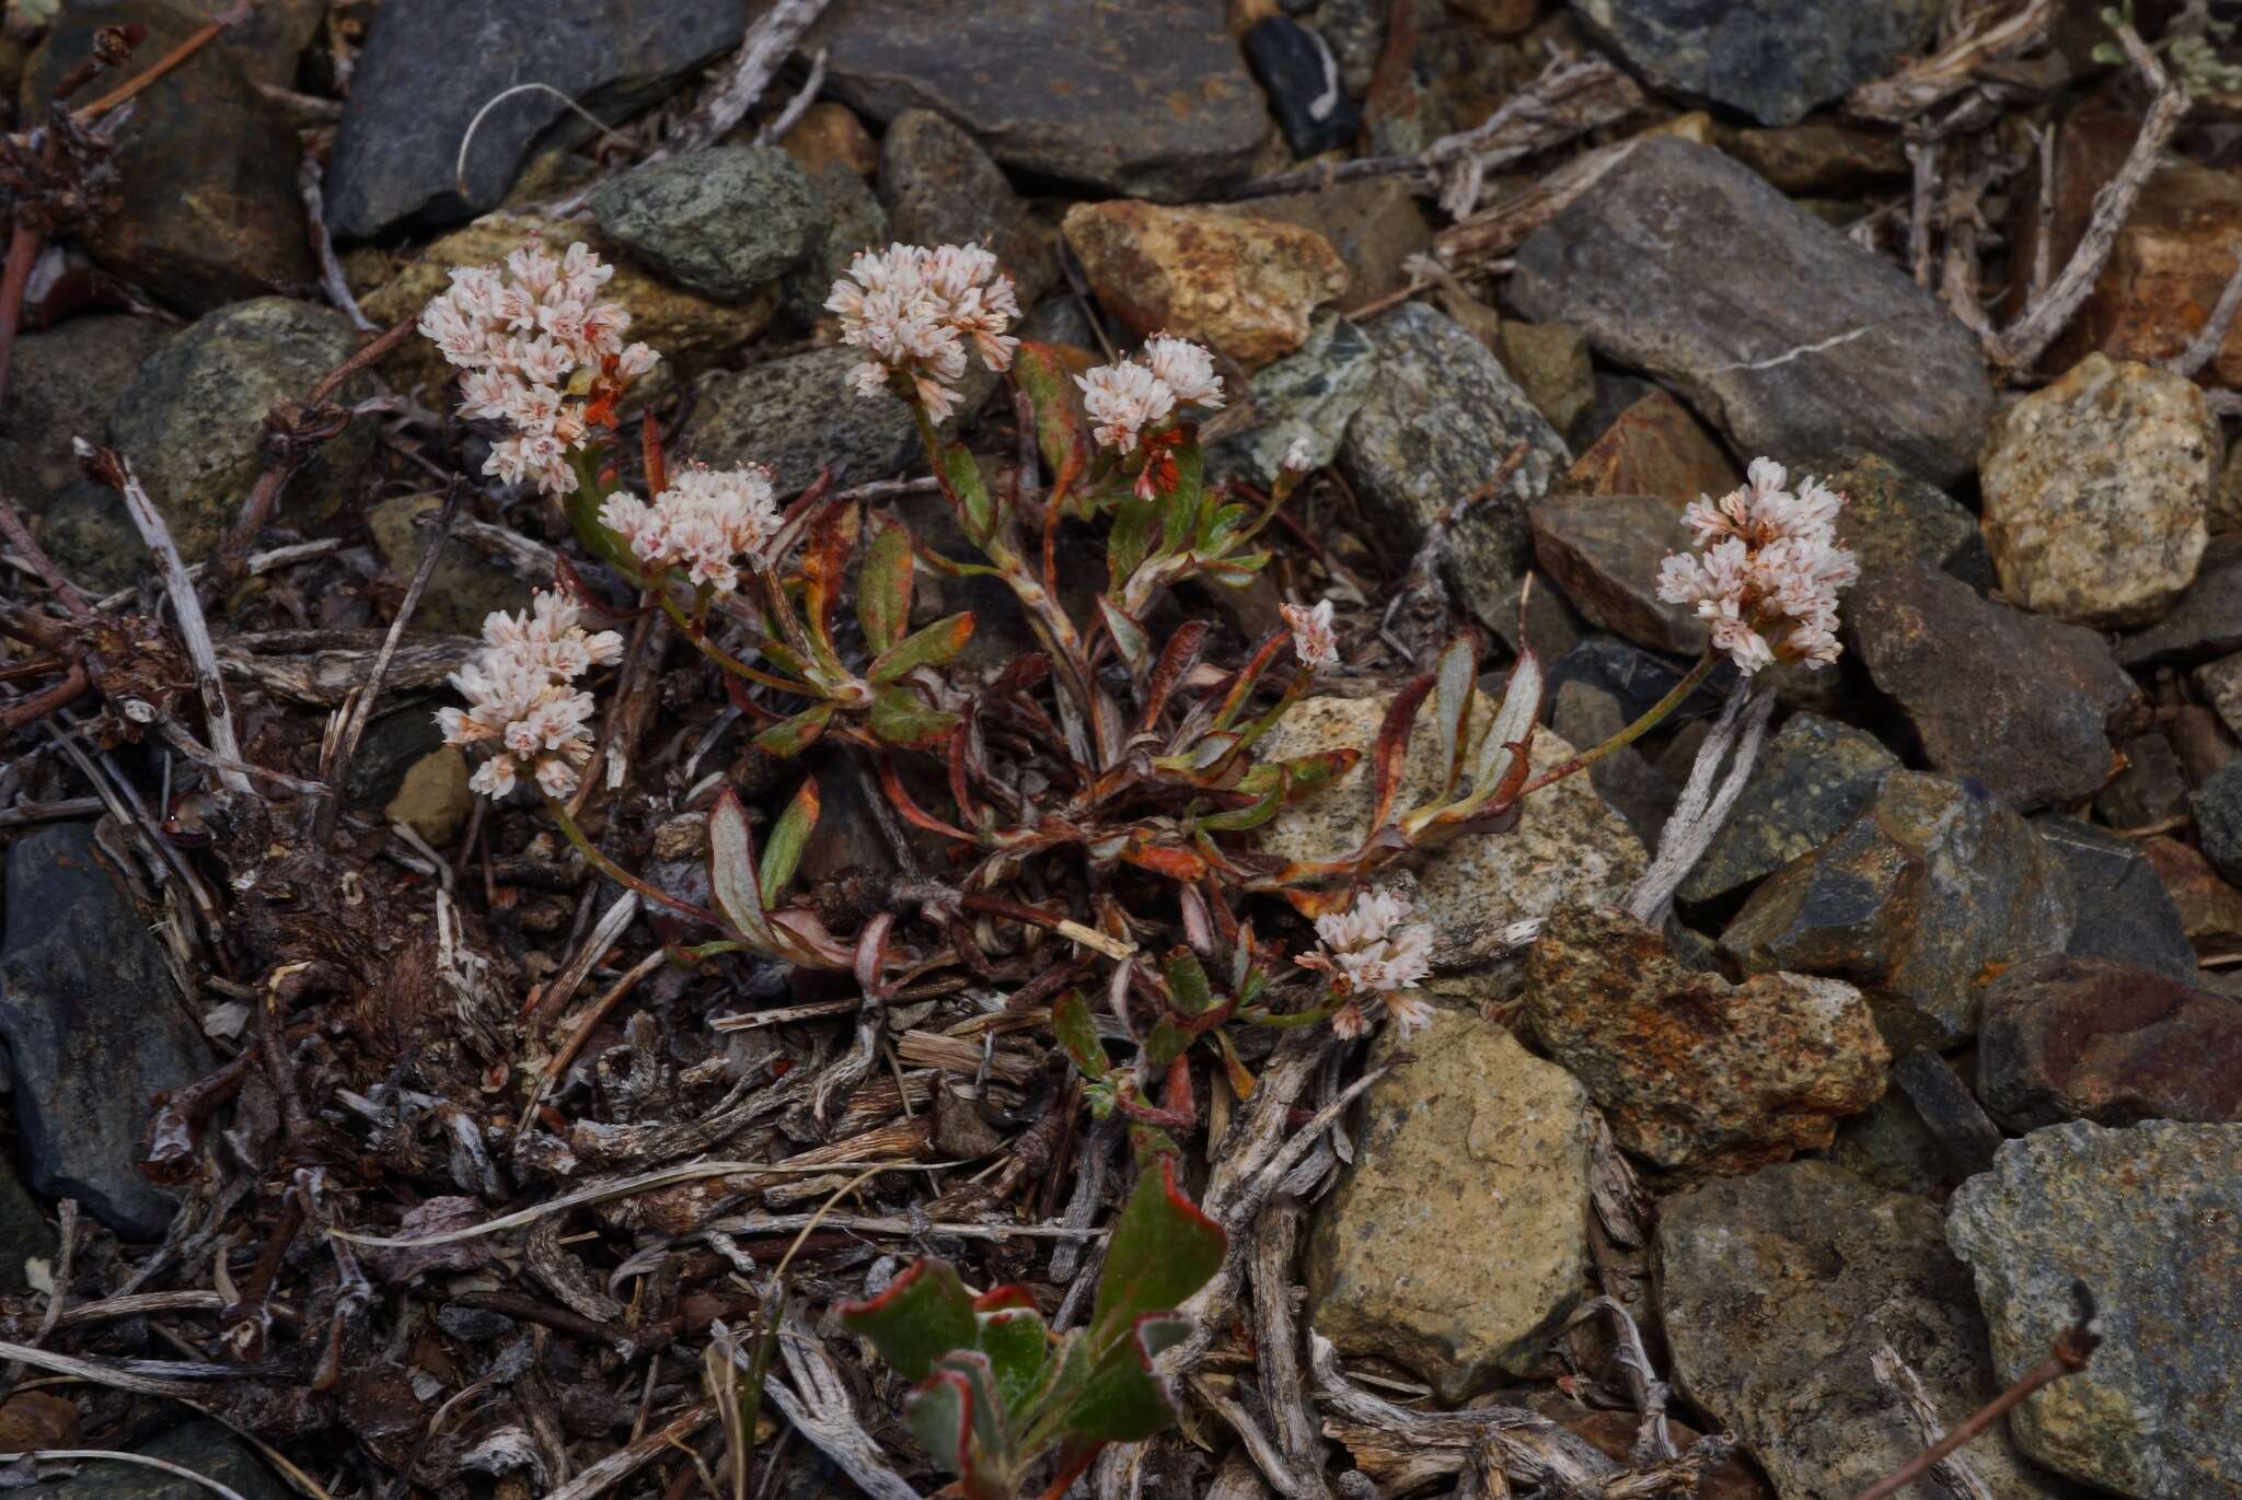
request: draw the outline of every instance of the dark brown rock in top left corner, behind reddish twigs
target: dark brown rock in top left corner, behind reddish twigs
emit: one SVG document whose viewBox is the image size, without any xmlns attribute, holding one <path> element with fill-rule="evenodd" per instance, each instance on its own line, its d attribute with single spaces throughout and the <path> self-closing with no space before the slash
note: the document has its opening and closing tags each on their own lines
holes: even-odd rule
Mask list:
<svg viewBox="0 0 2242 1500">
<path fill-rule="evenodd" d="M 45 101 L 92 52 L 94 29 L 108 25 L 148 27 L 139 70 L 193 36 L 204 18 L 164 0 L 65 7 L 31 54 L 25 99 Z M 307 294 L 318 267 L 296 195 L 300 157 L 294 126 L 258 94 L 242 54 L 204 47 L 193 67 L 132 101 L 132 123 L 110 159 L 119 206 L 85 229 L 85 249 L 186 312 L 276 291 Z"/>
</svg>

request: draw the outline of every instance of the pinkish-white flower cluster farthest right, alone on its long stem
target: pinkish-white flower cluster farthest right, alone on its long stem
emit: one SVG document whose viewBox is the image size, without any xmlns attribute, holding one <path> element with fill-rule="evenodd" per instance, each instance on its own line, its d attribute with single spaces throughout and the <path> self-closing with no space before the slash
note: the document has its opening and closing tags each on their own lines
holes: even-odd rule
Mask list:
<svg viewBox="0 0 2242 1500">
<path fill-rule="evenodd" d="M 1861 576 L 1859 558 L 1836 545 L 1845 496 L 1812 478 L 1791 493 L 1787 478 L 1771 457 L 1751 460 L 1742 489 L 1699 496 L 1682 513 L 1697 552 L 1659 565 L 1659 599 L 1697 605 L 1713 646 L 1744 673 L 1836 661 L 1836 594 Z"/>
</svg>

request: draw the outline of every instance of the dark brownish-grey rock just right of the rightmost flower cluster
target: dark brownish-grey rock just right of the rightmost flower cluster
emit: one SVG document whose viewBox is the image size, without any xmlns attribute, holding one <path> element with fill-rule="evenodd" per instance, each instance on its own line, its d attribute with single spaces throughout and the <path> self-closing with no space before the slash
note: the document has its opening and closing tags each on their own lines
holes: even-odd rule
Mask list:
<svg viewBox="0 0 2242 1500">
<path fill-rule="evenodd" d="M 2094 796 L 2112 733 L 2134 726 L 2139 688 L 2101 635 L 1980 599 L 1948 574 L 1872 572 L 1845 599 L 1845 621 L 1930 765 L 2016 807 Z"/>
</svg>

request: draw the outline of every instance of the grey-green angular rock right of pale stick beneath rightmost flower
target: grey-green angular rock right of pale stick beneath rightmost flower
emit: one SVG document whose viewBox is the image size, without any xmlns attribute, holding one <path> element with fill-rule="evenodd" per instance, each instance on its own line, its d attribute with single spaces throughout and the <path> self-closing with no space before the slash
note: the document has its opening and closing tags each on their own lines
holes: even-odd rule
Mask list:
<svg viewBox="0 0 2242 1500">
<path fill-rule="evenodd" d="M 1899 756 L 1874 735 L 1794 713 L 1760 753 L 1679 899 L 1697 906 L 1742 895 L 1852 823 L 1897 765 Z"/>
</svg>

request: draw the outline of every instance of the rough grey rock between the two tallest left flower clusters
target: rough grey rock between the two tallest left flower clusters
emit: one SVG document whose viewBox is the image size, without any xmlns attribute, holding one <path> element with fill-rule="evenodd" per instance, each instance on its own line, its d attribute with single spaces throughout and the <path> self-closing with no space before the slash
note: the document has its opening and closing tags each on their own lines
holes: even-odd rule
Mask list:
<svg viewBox="0 0 2242 1500">
<path fill-rule="evenodd" d="M 702 386 L 693 439 L 711 464 L 767 464 L 780 493 L 834 471 L 834 484 L 886 480 L 919 453 L 910 408 L 847 388 L 856 352 L 809 350 Z"/>
</svg>

